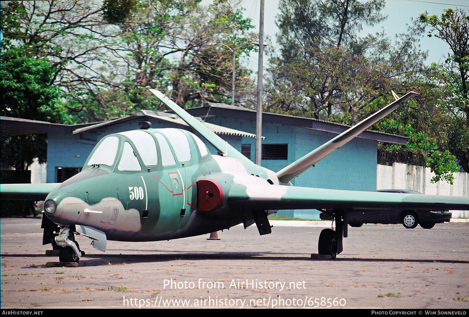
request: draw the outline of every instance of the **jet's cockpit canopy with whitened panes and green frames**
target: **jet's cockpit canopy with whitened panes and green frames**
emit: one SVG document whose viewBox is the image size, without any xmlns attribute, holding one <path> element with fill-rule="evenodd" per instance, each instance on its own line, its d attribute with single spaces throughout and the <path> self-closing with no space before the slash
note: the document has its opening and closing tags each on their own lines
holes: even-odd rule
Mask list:
<svg viewBox="0 0 469 317">
<path fill-rule="evenodd" d="M 204 142 L 176 129 L 145 129 L 105 136 L 95 146 L 83 169 L 107 166 L 115 172 L 158 170 L 164 166 L 198 165 L 211 158 Z"/>
</svg>

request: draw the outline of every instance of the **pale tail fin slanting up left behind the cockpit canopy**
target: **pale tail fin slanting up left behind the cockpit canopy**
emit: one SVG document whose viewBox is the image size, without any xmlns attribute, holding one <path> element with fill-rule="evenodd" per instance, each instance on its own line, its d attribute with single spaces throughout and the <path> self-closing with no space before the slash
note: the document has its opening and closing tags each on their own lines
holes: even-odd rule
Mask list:
<svg viewBox="0 0 469 317">
<path fill-rule="evenodd" d="M 248 164 L 254 164 L 249 158 L 246 158 L 239 151 L 237 151 L 230 144 L 225 142 L 221 137 L 213 133 L 209 128 L 207 128 L 202 122 L 198 121 L 196 118 L 187 113 L 180 106 L 176 105 L 174 101 L 167 98 L 163 93 L 155 89 L 150 89 L 151 93 L 158 97 L 162 102 L 166 104 L 171 110 L 174 111 L 183 121 L 189 124 L 190 127 L 194 128 L 201 136 L 204 137 L 208 143 L 212 144 L 215 149 L 220 153 L 227 154 L 231 158 L 236 158 L 237 160 Z"/>
</svg>

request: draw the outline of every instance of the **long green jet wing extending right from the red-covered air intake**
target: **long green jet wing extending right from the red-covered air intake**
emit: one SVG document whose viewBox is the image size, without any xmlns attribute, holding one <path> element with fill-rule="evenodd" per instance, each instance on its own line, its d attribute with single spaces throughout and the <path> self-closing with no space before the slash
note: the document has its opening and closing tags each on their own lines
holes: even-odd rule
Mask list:
<svg viewBox="0 0 469 317">
<path fill-rule="evenodd" d="M 469 197 L 319 189 L 283 185 L 234 184 L 228 204 L 246 210 L 380 209 L 469 210 Z"/>
</svg>

